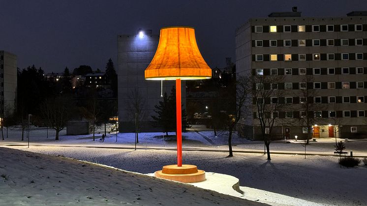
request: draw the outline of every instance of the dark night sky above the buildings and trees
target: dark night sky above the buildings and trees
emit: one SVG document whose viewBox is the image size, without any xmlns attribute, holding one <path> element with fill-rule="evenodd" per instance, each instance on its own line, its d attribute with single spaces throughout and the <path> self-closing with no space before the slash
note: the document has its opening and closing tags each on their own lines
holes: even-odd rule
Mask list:
<svg viewBox="0 0 367 206">
<path fill-rule="evenodd" d="M 0 50 L 46 72 L 79 65 L 117 67 L 117 35 L 137 29 L 190 26 L 200 51 L 214 68 L 235 58 L 235 29 L 273 11 L 302 16 L 345 16 L 367 10 L 366 0 L 0 0 Z"/>
</svg>

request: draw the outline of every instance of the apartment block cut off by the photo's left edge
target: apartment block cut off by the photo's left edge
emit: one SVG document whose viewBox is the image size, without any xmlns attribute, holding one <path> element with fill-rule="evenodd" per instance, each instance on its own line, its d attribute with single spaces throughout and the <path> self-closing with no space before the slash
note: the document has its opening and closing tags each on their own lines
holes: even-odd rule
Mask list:
<svg viewBox="0 0 367 206">
<path fill-rule="evenodd" d="M 17 56 L 0 51 L 0 114 L 9 116 L 16 108 Z"/>
</svg>

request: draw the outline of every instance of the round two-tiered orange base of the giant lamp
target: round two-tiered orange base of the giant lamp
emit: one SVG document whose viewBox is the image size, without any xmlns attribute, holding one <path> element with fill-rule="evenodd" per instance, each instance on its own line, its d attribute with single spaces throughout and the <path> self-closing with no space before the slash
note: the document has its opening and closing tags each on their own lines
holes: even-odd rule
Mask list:
<svg viewBox="0 0 367 206">
<path fill-rule="evenodd" d="M 195 165 L 166 165 L 162 170 L 156 171 L 154 177 L 175 180 L 179 182 L 192 183 L 205 180 L 205 171 L 198 170 Z"/>
</svg>

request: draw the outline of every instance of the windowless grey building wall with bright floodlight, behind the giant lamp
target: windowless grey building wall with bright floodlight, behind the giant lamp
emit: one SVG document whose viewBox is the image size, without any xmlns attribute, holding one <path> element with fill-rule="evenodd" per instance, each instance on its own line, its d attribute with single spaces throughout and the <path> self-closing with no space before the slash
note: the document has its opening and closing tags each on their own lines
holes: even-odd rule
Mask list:
<svg viewBox="0 0 367 206">
<path fill-rule="evenodd" d="M 153 111 L 155 105 L 162 101 L 161 92 L 170 95 L 174 81 L 148 81 L 144 71 L 154 57 L 158 46 L 159 35 L 153 35 L 152 30 L 139 29 L 136 34 L 118 35 L 118 107 L 119 131 L 135 131 L 135 108 L 142 110 L 140 131 L 160 131 L 152 125 L 157 114 Z M 185 106 L 185 84 L 182 83 L 182 102 Z"/>
</svg>

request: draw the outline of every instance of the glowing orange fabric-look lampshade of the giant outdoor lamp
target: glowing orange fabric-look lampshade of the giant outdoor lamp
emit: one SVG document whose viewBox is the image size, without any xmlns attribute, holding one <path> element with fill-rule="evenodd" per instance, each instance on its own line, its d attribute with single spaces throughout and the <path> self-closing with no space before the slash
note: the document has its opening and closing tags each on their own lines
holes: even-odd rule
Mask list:
<svg viewBox="0 0 367 206">
<path fill-rule="evenodd" d="M 167 27 L 160 29 L 157 51 L 145 70 L 147 80 L 209 79 L 212 69 L 196 44 L 195 29 Z"/>
</svg>

